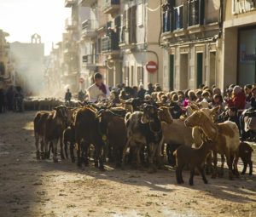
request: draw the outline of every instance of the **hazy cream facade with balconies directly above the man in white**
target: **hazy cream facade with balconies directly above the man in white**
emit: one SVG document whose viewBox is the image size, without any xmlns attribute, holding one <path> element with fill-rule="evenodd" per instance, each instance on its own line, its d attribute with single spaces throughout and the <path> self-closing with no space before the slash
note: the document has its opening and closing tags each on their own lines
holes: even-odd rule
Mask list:
<svg viewBox="0 0 256 217">
<path fill-rule="evenodd" d="M 107 15 L 102 12 L 102 1 L 81 0 L 80 7 L 89 9 L 88 16 L 81 23 L 80 61 L 84 78 L 82 89 L 87 89 L 93 83 L 93 75 L 101 72 L 107 82 L 106 65 L 102 53 L 102 38 L 107 27 Z"/>
</svg>

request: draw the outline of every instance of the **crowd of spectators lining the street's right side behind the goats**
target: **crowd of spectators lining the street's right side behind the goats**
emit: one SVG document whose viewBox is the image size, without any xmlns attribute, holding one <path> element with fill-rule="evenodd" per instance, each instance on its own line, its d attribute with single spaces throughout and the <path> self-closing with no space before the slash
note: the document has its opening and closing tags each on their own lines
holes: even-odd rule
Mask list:
<svg viewBox="0 0 256 217">
<path fill-rule="evenodd" d="M 178 118 L 183 113 L 184 108 L 189 103 L 200 103 L 205 101 L 212 108 L 219 106 L 218 122 L 232 121 L 237 124 L 241 140 L 246 140 L 247 132 L 244 131 L 244 118 L 253 116 L 256 111 L 256 84 L 247 84 L 242 89 L 239 85 L 230 84 L 224 93 L 215 85 L 207 87 L 201 84 L 199 89 L 186 91 L 170 91 L 168 93 L 162 91 L 160 84 L 153 85 L 148 83 L 148 89 L 143 89 L 143 85 L 126 87 L 125 84 L 118 84 L 111 89 L 111 99 L 115 103 L 120 100 L 129 100 L 131 98 L 140 98 L 142 100 L 154 100 L 154 102 L 162 104 L 170 104 L 172 106 L 173 118 Z"/>
</svg>

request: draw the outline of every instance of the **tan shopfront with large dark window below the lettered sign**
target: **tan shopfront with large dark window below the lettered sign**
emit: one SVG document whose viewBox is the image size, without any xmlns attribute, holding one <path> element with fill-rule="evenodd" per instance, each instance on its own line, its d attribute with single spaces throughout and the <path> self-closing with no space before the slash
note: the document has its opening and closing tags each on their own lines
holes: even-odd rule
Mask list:
<svg viewBox="0 0 256 217">
<path fill-rule="evenodd" d="M 256 83 L 256 1 L 224 1 L 221 86 Z"/>
</svg>

